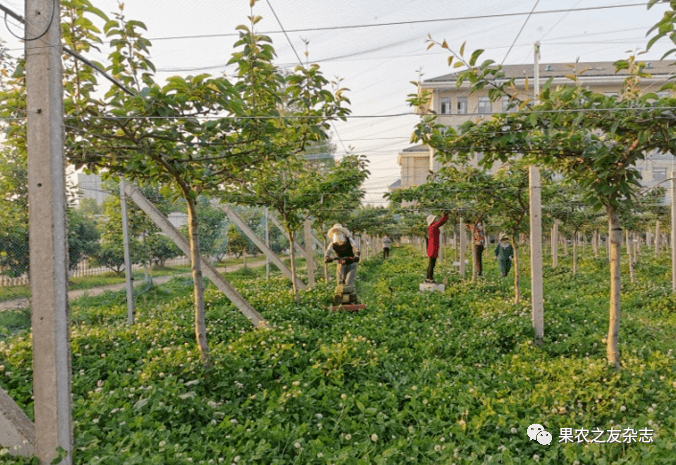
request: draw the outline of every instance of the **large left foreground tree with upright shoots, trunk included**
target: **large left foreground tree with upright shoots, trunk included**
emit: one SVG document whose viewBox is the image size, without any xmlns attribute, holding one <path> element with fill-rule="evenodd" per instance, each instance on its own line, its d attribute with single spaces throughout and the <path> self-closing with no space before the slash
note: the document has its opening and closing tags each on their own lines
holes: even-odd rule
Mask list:
<svg viewBox="0 0 676 465">
<path fill-rule="evenodd" d="M 274 64 L 271 39 L 255 32 L 259 16 L 250 16 L 248 25 L 237 28 L 240 37 L 229 62 L 236 68 L 234 78 L 203 74 L 160 83 L 145 25 L 127 19 L 122 5 L 112 17 L 89 0 L 64 0 L 63 6 L 63 40 L 72 50 L 85 53 L 110 44 L 107 63 L 93 65 L 106 71 L 112 83 L 106 88 L 92 66 L 64 55 L 68 161 L 75 168 L 170 188 L 183 198 L 193 261 L 195 332 L 208 364 L 198 259 L 200 194 L 251 176 L 261 164 L 300 153 L 308 142 L 325 140 L 328 121 L 347 114 L 347 99 L 342 89 L 327 90 L 317 65 L 282 72 Z M 20 117 L 25 113 L 23 68 L 4 64 L 12 68 L 5 76 L 15 77 L 3 82 L 1 111 Z M 282 102 L 289 103 L 284 114 Z M 16 151 L 11 157 L 20 160 L 25 157 L 25 131 L 20 120 L 6 121 L 8 142 Z M 16 204 L 14 210 L 20 214 L 22 208 Z M 12 237 L 19 240 L 22 235 Z M 21 266 L 20 257 L 2 258 Z"/>
</svg>

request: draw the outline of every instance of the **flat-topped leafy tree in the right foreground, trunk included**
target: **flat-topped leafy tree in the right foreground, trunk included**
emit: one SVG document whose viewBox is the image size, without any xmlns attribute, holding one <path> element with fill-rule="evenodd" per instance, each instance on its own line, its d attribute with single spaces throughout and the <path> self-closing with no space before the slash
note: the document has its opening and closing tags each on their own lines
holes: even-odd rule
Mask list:
<svg viewBox="0 0 676 465">
<path fill-rule="evenodd" d="M 443 47 L 450 50 L 444 42 Z M 513 80 L 504 77 L 501 67 L 491 60 L 479 65 L 481 50 L 465 61 L 464 44 L 453 58 L 467 66 L 458 84 L 468 82 L 474 90 L 489 88 L 492 101 L 503 95 L 516 105 L 518 96 Z M 462 65 L 461 65 L 462 66 Z M 465 160 L 475 152 L 483 153 L 481 164 L 508 162 L 521 158 L 527 163 L 551 169 L 575 182 L 582 189 L 582 200 L 596 209 L 604 209 L 608 219 L 610 247 L 610 323 L 607 357 L 619 368 L 620 212 L 630 208 L 640 186 L 636 163 L 655 147 L 671 148 L 668 131 L 655 128 L 655 94 L 639 96 L 636 80 L 645 75 L 645 64 L 633 59 L 617 62 L 630 71 L 625 90 L 619 97 L 591 92 L 571 84 L 553 87 L 545 84 L 537 103 L 524 100 L 518 111 L 501 113 L 493 119 L 469 121 L 457 131 L 442 127 L 433 115 L 424 116 L 414 139 L 437 149 L 447 160 Z M 424 108 L 428 95 L 414 95 L 413 105 Z"/>
</svg>

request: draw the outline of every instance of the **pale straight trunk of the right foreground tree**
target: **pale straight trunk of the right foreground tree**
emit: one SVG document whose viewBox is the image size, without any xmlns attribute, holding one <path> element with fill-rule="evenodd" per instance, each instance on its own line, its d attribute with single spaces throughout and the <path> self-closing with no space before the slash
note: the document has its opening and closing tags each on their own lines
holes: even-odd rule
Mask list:
<svg viewBox="0 0 676 465">
<path fill-rule="evenodd" d="M 608 243 L 610 247 L 610 315 L 608 321 L 608 339 L 606 353 L 608 364 L 620 369 L 618 337 L 620 333 L 620 246 L 622 227 L 615 208 L 606 207 L 608 213 Z"/>
</svg>

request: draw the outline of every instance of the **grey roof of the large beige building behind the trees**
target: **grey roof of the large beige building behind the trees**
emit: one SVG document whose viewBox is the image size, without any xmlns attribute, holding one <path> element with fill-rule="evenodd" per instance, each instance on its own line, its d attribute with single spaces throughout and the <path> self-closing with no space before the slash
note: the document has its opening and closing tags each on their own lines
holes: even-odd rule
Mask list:
<svg viewBox="0 0 676 465">
<path fill-rule="evenodd" d="M 644 69 L 645 72 L 653 76 L 666 76 L 676 74 L 676 66 L 673 61 L 661 60 L 645 62 L 647 64 Z M 506 78 L 529 78 L 532 79 L 535 75 L 534 65 L 503 65 L 502 70 Z M 455 82 L 458 75 L 462 71 L 451 74 L 445 74 L 432 79 L 426 79 L 425 83 L 443 83 Z M 557 77 L 565 77 L 571 74 L 580 76 L 627 76 L 629 73 L 626 69 L 615 72 L 615 65 L 612 61 L 596 61 L 587 63 L 540 63 L 540 79 L 549 79 Z"/>
</svg>

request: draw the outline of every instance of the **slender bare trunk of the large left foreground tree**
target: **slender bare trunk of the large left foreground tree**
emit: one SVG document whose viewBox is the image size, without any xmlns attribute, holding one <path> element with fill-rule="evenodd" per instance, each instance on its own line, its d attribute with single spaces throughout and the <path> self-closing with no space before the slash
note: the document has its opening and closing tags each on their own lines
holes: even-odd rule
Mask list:
<svg viewBox="0 0 676 465">
<path fill-rule="evenodd" d="M 200 262 L 200 241 L 197 232 L 197 210 L 195 200 L 186 195 L 188 208 L 188 234 L 190 235 L 190 270 L 192 271 L 193 292 L 195 294 L 195 338 L 200 351 L 200 360 L 205 367 L 211 365 L 207 325 L 204 315 L 204 280 Z"/>
</svg>

